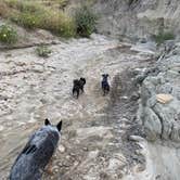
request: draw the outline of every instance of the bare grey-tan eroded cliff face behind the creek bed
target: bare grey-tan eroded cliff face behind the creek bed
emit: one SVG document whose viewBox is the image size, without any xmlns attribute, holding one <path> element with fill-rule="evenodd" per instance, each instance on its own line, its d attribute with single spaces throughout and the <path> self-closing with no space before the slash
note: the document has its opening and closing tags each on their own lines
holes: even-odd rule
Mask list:
<svg viewBox="0 0 180 180">
<path fill-rule="evenodd" d="M 177 34 L 180 29 L 178 0 L 100 0 L 98 29 L 113 37 L 133 40 L 149 38 L 160 29 Z"/>
</svg>

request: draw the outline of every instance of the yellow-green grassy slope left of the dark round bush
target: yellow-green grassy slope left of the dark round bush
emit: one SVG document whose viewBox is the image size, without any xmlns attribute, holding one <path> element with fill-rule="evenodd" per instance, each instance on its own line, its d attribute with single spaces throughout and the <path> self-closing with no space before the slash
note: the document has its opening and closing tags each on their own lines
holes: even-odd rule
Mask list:
<svg viewBox="0 0 180 180">
<path fill-rule="evenodd" d="M 64 4 L 67 3 L 67 0 L 49 0 L 47 2 Z M 9 13 L 2 12 L 2 15 L 28 29 L 41 28 L 61 37 L 75 36 L 74 18 L 65 12 L 43 3 L 43 1 L 39 0 L 3 0 L 3 4 L 9 10 Z"/>
</svg>

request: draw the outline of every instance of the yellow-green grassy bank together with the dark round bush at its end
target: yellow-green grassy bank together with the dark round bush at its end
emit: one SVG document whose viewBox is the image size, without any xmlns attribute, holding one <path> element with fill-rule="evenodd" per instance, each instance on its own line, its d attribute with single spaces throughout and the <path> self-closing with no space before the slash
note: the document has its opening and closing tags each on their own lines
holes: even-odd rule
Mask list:
<svg viewBox="0 0 180 180">
<path fill-rule="evenodd" d="M 94 31 L 95 15 L 86 7 L 75 17 L 63 11 L 68 0 L 0 0 L 0 16 L 27 29 L 41 28 L 60 37 L 86 36 Z"/>
</svg>

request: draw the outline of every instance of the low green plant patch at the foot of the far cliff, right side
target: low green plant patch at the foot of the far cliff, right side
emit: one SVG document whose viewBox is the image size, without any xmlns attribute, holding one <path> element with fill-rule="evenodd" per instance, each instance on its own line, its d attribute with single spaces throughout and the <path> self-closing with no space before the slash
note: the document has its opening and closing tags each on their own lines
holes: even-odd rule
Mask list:
<svg viewBox="0 0 180 180">
<path fill-rule="evenodd" d="M 153 35 L 153 39 L 157 44 L 164 43 L 166 40 L 175 39 L 175 35 L 171 31 L 159 33 L 158 35 Z"/>
</svg>

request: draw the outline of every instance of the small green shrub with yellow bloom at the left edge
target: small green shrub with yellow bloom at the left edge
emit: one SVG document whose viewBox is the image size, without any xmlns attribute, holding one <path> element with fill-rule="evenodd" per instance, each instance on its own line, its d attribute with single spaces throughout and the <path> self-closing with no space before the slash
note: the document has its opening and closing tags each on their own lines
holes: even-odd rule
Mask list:
<svg viewBox="0 0 180 180">
<path fill-rule="evenodd" d="M 17 41 L 17 33 L 8 25 L 0 26 L 0 41 L 3 43 L 15 43 Z"/>
</svg>

